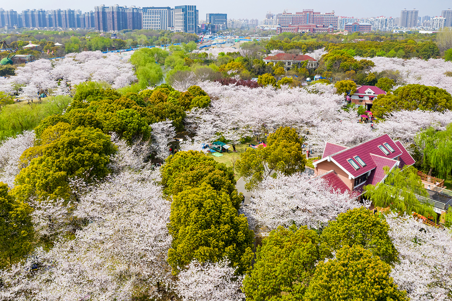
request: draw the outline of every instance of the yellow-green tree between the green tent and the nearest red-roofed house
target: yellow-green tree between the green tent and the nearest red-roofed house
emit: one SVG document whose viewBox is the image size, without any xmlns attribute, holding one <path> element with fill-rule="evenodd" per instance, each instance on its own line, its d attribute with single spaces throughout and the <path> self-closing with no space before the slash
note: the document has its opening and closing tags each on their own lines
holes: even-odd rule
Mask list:
<svg viewBox="0 0 452 301">
<path fill-rule="evenodd" d="M 251 190 L 274 172 L 285 176 L 303 172 L 307 161 L 302 144 L 295 129 L 280 127 L 269 135 L 267 147 L 247 148 L 236 164 L 239 174 L 247 178 L 245 187 Z"/>
</svg>

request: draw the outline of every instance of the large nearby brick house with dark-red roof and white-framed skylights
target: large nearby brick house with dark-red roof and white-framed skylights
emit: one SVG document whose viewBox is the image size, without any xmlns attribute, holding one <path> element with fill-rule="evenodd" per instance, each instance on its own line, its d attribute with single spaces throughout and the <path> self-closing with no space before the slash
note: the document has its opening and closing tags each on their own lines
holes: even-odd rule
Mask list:
<svg viewBox="0 0 452 301">
<path fill-rule="evenodd" d="M 383 167 L 392 170 L 414 163 L 402 143 L 385 134 L 353 147 L 327 142 L 322 159 L 314 162 L 314 176 L 325 179 L 333 189 L 347 188 L 358 197 L 363 194 L 364 185 L 385 180 Z"/>
</svg>

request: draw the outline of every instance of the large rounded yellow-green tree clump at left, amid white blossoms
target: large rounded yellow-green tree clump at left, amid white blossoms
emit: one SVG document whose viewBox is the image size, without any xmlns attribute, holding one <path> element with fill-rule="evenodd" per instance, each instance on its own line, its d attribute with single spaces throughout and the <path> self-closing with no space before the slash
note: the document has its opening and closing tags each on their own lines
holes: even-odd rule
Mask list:
<svg viewBox="0 0 452 301">
<path fill-rule="evenodd" d="M 38 156 L 16 177 L 13 194 L 19 200 L 31 197 L 68 200 L 73 196 L 71 179 L 90 183 L 109 173 L 107 164 L 116 146 L 99 129 L 78 127 L 46 145 L 32 147 L 29 152 Z"/>
</svg>

